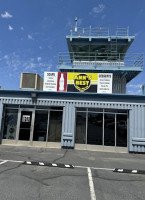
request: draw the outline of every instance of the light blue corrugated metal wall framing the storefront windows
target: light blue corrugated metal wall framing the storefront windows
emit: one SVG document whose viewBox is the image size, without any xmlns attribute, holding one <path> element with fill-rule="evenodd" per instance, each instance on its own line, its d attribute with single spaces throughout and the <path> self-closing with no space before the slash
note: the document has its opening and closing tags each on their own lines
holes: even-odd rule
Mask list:
<svg viewBox="0 0 145 200">
<path fill-rule="evenodd" d="M 126 109 L 129 111 L 128 126 L 128 149 L 131 152 L 145 152 L 145 103 L 125 103 L 125 102 L 102 102 L 86 100 L 58 100 L 58 99 L 37 99 L 33 102 L 31 98 L 2 98 L 0 99 L 0 123 L 2 119 L 2 104 L 21 105 L 47 105 L 63 106 L 62 124 L 62 146 L 74 147 L 75 134 L 75 108 L 110 108 Z"/>
</svg>

